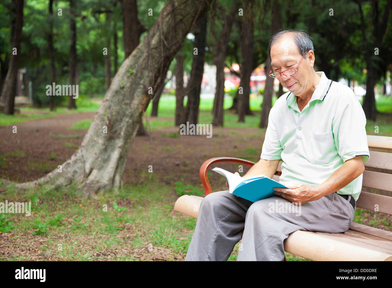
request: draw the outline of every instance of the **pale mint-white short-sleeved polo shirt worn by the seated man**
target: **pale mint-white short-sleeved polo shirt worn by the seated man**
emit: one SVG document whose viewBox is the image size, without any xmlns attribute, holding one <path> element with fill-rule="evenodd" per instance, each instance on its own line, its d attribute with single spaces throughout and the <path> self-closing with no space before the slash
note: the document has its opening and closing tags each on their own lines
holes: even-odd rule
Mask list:
<svg viewBox="0 0 392 288">
<path fill-rule="evenodd" d="M 287 92 L 270 110 L 261 159 L 283 161 L 279 182 L 317 186 L 345 161 L 370 158 L 361 103 L 347 86 L 329 80 L 324 72 L 312 98 L 302 111 L 297 96 Z M 362 188 L 358 176 L 338 194 L 358 199 Z"/>
</svg>

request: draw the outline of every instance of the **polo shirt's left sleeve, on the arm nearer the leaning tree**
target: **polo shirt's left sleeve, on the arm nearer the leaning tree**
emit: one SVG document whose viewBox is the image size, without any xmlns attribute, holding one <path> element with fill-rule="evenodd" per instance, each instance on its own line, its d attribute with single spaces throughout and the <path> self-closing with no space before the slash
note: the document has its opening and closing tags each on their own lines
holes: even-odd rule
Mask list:
<svg viewBox="0 0 392 288">
<path fill-rule="evenodd" d="M 268 126 L 267 130 L 265 131 L 265 138 L 263 143 L 263 148 L 261 149 L 260 159 L 265 160 L 280 160 L 281 159 L 281 152 L 283 151 L 278 131 L 276 129 L 276 125 L 274 122 L 274 107 L 269 112 L 268 116 Z"/>
</svg>

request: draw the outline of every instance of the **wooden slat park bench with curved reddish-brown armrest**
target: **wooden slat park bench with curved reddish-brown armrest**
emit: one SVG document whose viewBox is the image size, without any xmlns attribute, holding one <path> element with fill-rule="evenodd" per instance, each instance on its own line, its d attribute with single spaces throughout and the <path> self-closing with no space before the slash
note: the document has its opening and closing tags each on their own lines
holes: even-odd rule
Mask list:
<svg viewBox="0 0 392 288">
<path fill-rule="evenodd" d="M 392 150 L 392 137 L 367 136 L 370 159 L 365 163 L 362 192 L 356 208 L 378 211 L 392 215 L 392 197 L 364 192 L 365 187 L 392 192 L 392 153 L 375 150 Z M 372 150 L 371 150 L 372 149 Z M 254 162 L 230 157 L 208 159 L 201 165 L 200 179 L 205 195 L 212 192 L 207 179 L 208 168 L 218 162 L 238 163 L 252 167 Z M 281 161 L 273 176 L 279 180 Z M 377 172 L 374 170 L 383 170 Z M 368 189 L 369 190 L 369 189 Z M 183 195 L 174 205 L 174 210 L 197 218 L 203 197 Z M 242 233 L 241 233 L 242 235 Z M 286 252 L 314 261 L 392 261 L 392 232 L 353 222 L 345 233 L 323 233 L 296 231 L 283 242 Z M 285 259 L 286 260 L 286 259 Z"/>
</svg>

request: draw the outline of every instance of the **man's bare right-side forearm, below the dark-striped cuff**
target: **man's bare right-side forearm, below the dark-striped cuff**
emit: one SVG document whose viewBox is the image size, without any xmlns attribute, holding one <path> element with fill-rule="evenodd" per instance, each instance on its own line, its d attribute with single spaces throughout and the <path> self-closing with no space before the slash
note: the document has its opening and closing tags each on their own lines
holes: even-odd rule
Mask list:
<svg viewBox="0 0 392 288">
<path fill-rule="evenodd" d="M 363 166 L 363 156 L 349 159 L 327 180 L 314 187 L 315 191 L 321 197 L 331 194 L 347 186 L 352 180 L 359 177 L 364 170 L 365 167 Z"/>
</svg>

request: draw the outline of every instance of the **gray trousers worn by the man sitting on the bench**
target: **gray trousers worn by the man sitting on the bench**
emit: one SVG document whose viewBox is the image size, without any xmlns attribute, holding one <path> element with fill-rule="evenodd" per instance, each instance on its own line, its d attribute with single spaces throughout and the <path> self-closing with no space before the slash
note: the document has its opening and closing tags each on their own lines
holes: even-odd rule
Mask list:
<svg viewBox="0 0 392 288">
<path fill-rule="evenodd" d="M 253 203 L 213 192 L 201 201 L 185 261 L 227 261 L 243 228 L 237 261 L 283 261 L 283 240 L 294 231 L 346 232 L 354 219 L 350 197 L 331 193 L 295 208 L 279 196 Z"/>
</svg>

